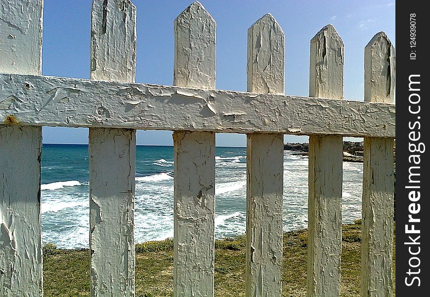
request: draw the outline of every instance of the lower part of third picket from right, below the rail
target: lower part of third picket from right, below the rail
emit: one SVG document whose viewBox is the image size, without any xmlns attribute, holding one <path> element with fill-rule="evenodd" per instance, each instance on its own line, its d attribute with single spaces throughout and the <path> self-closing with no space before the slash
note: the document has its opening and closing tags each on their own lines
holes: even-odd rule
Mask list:
<svg viewBox="0 0 430 297">
<path fill-rule="evenodd" d="M 280 133 L 247 137 L 247 297 L 282 294 L 283 144 Z"/>
</svg>

